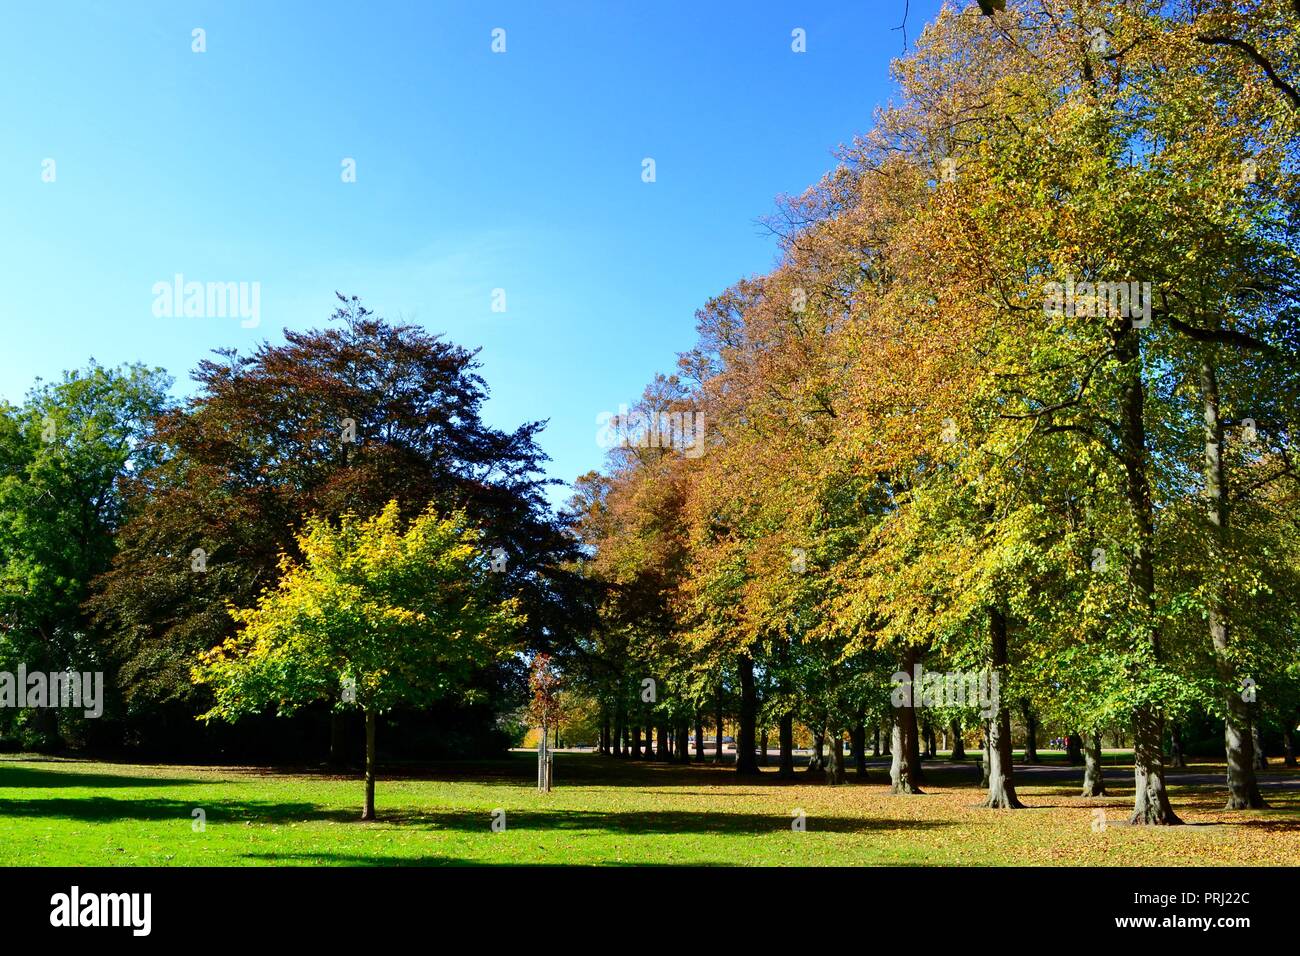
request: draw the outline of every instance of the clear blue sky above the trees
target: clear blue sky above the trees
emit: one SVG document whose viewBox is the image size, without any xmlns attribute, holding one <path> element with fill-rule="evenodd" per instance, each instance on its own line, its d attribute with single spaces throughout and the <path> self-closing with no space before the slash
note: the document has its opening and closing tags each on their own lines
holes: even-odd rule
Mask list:
<svg viewBox="0 0 1300 956">
<path fill-rule="evenodd" d="M 915 39 L 939 0 L 910 5 Z M 902 9 L 5 4 L 0 397 L 90 356 L 185 393 L 208 350 L 321 325 L 338 289 L 481 346 L 488 419 L 550 419 L 569 481 L 602 462 L 595 416 L 690 347 L 696 308 L 771 267 L 755 220 L 870 126 Z M 260 282 L 261 324 L 155 317 L 176 273 Z"/>
</svg>

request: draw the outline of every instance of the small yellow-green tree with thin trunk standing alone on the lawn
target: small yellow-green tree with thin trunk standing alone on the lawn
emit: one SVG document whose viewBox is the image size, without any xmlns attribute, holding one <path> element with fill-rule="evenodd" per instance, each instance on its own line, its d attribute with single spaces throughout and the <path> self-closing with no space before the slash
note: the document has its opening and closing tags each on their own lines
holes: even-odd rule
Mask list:
<svg viewBox="0 0 1300 956">
<path fill-rule="evenodd" d="M 216 702 L 200 719 L 228 721 L 311 701 L 365 715 L 365 808 L 374 819 L 376 727 L 398 705 L 463 691 L 474 666 L 502 657 L 523 624 L 500 600 L 482 533 L 465 512 L 430 507 L 406 531 L 396 501 L 372 518 L 309 518 L 302 562 L 281 555 L 281 578 L 257 604 L 230 609 L 239 630 L 199 656 L 195 683 Z"/>
</svg>

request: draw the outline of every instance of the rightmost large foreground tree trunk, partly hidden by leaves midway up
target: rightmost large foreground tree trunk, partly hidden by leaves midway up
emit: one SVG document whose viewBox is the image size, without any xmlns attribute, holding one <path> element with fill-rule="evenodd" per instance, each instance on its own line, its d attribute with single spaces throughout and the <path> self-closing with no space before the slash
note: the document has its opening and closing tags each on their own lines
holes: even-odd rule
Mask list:
<svg viewBox="0 0 1300 956">
<path fill-rule="evenodd" d="M 1205 498 L 1214 549 L 1219 553 L 1228 536 L 1228 484 L 1223 463 L 1223 421 L 1219 418 L 1218 373 L 1209 359 L 1201 362 L 1201 402 L 1205 406 Z M 1218 557 L 1218 555 L 1216 555 Z M 1212 562 L 1217 563 L 1217 562 Z M 1219 585 L 1222 587 L 1222 584 Z M 1251 715 L 1232 665 L 1231 628 L 1226 594 L 1217 593 L 1209 609 L 1210 646 L 1223 693 L 1223 749 L 1227 754 L 1227 805 L 1225 810 L 1266 806 L 1254 778 L 1254 741 L 1248 732 Z"/>
</svg>

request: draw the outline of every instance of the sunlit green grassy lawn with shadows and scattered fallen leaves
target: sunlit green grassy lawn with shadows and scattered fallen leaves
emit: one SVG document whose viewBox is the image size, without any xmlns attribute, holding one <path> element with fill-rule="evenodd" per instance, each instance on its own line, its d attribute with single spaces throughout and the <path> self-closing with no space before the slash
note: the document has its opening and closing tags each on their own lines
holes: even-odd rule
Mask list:
<svg viewBox="0 0 1300 956">
<path fill-rule="evenodd" d="M 1192 826 L 1145 830 L 1122 825 L 1132 779 L 1122 754 L 1110 761 L 1112 796 L 1076 796 L 1082 770 L 1048 754 L 1019 786 L 1032 809 L 991 812 L 974 806 L 971 762 L 927 762 L 927 793 L 896 797 L 879 763 L 864 783 L 850 774 L 826 787 L 802 773 L 780 784 L 774 769 L 737 782 L 714 766 L 559 753 L 558 788 L 543 796 L 536 758 L 514 753 L 390 767 L 380 819 L 361 823 L 356 777 L 0 757 L 0 864 L 1300 865 L 1300 771 L 1262 774 L 1271 809 L 1243 813 L 1221 810 L 1222 763 L 1170 771 L 1174 806 Z M 1205 775 L 1213 782 L 1199 783 Z M 490 826 L 498 808 L 504 832 Z M 790 827 L 796 808 L 805 832 Z M 1101 831 L 1095 809 L 1106 812 Z"/>
</svg>

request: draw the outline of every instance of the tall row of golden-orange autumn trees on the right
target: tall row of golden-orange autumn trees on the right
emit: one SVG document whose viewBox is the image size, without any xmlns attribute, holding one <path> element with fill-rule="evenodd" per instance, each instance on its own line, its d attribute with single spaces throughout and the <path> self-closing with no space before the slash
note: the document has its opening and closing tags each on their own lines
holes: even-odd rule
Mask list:
<svg viewBox="0 0 1300 956">
<path fill-rule="evenodd" d="M 1166 728 L 1210 714 L 1228 806 L 1262 805 L 1258 728 L 1300 704 L 1300 8 L 948 7 L 896 75 L 577 483 L 607 591 L 569 667 L 616 740 L 734 700 L 740 773 L 798 721 L 842 779 L 844 736 L 888 721 L 902 793 L 892 675 L 988 674 L 988 719 L 930 711 L 980 727 L 988 805 L 1020 805 L 1023 706 L 1093 792 L 1127 730 L 1136 823 L 1178 822 Z M 664 438 L 684 415 L 702 455 Z"/>
</svg>

